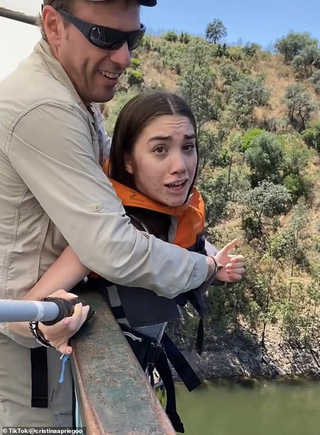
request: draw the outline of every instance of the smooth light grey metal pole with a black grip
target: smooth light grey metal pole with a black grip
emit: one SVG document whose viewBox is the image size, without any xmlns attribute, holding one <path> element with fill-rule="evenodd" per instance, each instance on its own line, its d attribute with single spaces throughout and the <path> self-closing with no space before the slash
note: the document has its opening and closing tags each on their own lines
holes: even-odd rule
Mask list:
<svg viewBox="0 0 320 435">
<path fill-rule="evenodd" d="M 0 322 L 47 322 L 59 312 L 55 302 L 0 300 Z"/>
</svg>

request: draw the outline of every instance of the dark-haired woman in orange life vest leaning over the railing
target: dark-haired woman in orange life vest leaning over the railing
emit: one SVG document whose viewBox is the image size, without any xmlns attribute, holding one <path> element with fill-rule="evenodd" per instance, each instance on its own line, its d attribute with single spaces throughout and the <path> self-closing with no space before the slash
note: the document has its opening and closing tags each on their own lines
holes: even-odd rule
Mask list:
<svg viewBox="0 0 320 435">
<path fill-rule="evenodd" d="M 202 234 L 204 206 L 194 187 L 197 165 L 196 123 L 190 108 L 181 98 L 162 90 L 149 91 L 126 104 L 116 122 L 110 164 L 104 169 L 127 214 L 139 230 L 145 231 L 146 236 L 150 233 L 184 248 L 205 253 Z M 216 280 L 234 282 L 241 279 L 244 273 L 243 257 L 229 255 L 235 245 L 236 240 L 214 257 L 217 263 Z M 68 247 L 28 293 L 28 299 L 40 299 L 58 288 L 68 291 L 89 273 Z M 157 348 L 158 354 L 153 355 L 154 360 L 150 355 L 149 359 L 143 358 L 147 352 L 141 348 L 141 340 L 147 350 L 151 345 L 154 348 L 154 343 L 164 344 L 164 337 L 166 346 L 172 347 L 164 334 L 167 322 L 180 316 L 179 307 L 187 300 L 202 315 L 206 288 L 169 299 L 147 289 L 129 288 L 94 278 L 90 282 L 102 289 L 143 369 L 146 372 L 150 369 L 148 374 L 152 375 L 154 364 L 158 369 L 157 361 L 161 360 L 162 367 L 158 371 L 164 373 L 161 373 L 162 377 L 166 376 L 169 366 L 167 360 L 164 361 L 161 347 Z M 65 343 L 49 339 L 51 326 L 40 323 L 38 326 L 51 345 L 62 353 L 72 352 L 72 348 Z M 141 340 L 131 340 L 132 335 Z M 173 358 L 181 362 L 177 354 Z M 198 384 L 197 380 L 195 383 L 190 389 Z M 175 410 L 172 387 L 172 379 L 167 379 L 166 388 L 171 392 L 167 412 L 176 430 L 183 431 Z"/>
</svg>

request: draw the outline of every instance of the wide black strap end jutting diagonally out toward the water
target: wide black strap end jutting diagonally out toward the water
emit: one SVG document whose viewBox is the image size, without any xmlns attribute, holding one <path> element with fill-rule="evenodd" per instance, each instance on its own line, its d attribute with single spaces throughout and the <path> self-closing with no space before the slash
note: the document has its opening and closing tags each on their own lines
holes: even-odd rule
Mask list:
<svg viewBox="0 0 320 435">
<path fill-rule="evenodd" d="M 180 376 L 182 382 L 185 384 L 189 391 L 194 390 L 201 384 L 200 379 L 196 375 L 193 368 L 190 366 L 186 358 L 181 351 L 177 348 L 170 337 L 164 332 L 162 337 L 162 343 L 166 349 L 166 354 L 175 368 L 176 372 Z"/>
</svg>

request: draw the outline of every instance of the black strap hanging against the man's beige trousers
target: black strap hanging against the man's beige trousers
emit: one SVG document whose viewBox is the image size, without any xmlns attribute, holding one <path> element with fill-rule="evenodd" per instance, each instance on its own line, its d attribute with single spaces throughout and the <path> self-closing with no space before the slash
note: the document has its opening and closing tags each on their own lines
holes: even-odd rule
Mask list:
<svg viewBox="0 0 320 435">
<path fill-rule="evenodd" d="M 48 407 L 47 348 L 30 349 L 31 408 Z"/>
</svg>

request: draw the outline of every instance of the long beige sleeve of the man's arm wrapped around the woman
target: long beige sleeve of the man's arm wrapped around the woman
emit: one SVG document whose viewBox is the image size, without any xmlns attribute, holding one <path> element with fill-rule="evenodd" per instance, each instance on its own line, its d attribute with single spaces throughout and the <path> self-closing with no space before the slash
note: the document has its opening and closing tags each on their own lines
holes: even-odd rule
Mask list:
<svg viewBox="0 0 320 435">
<path fill-rule="evenodd" d="M 93 152 L 88 125 L 72 107 L 45 103 L 16 123 L 8 158 L 80 261 L 115 283 L 174 298 L 198 287 L 205 256 L 138 231 Z"/>
</svg>

